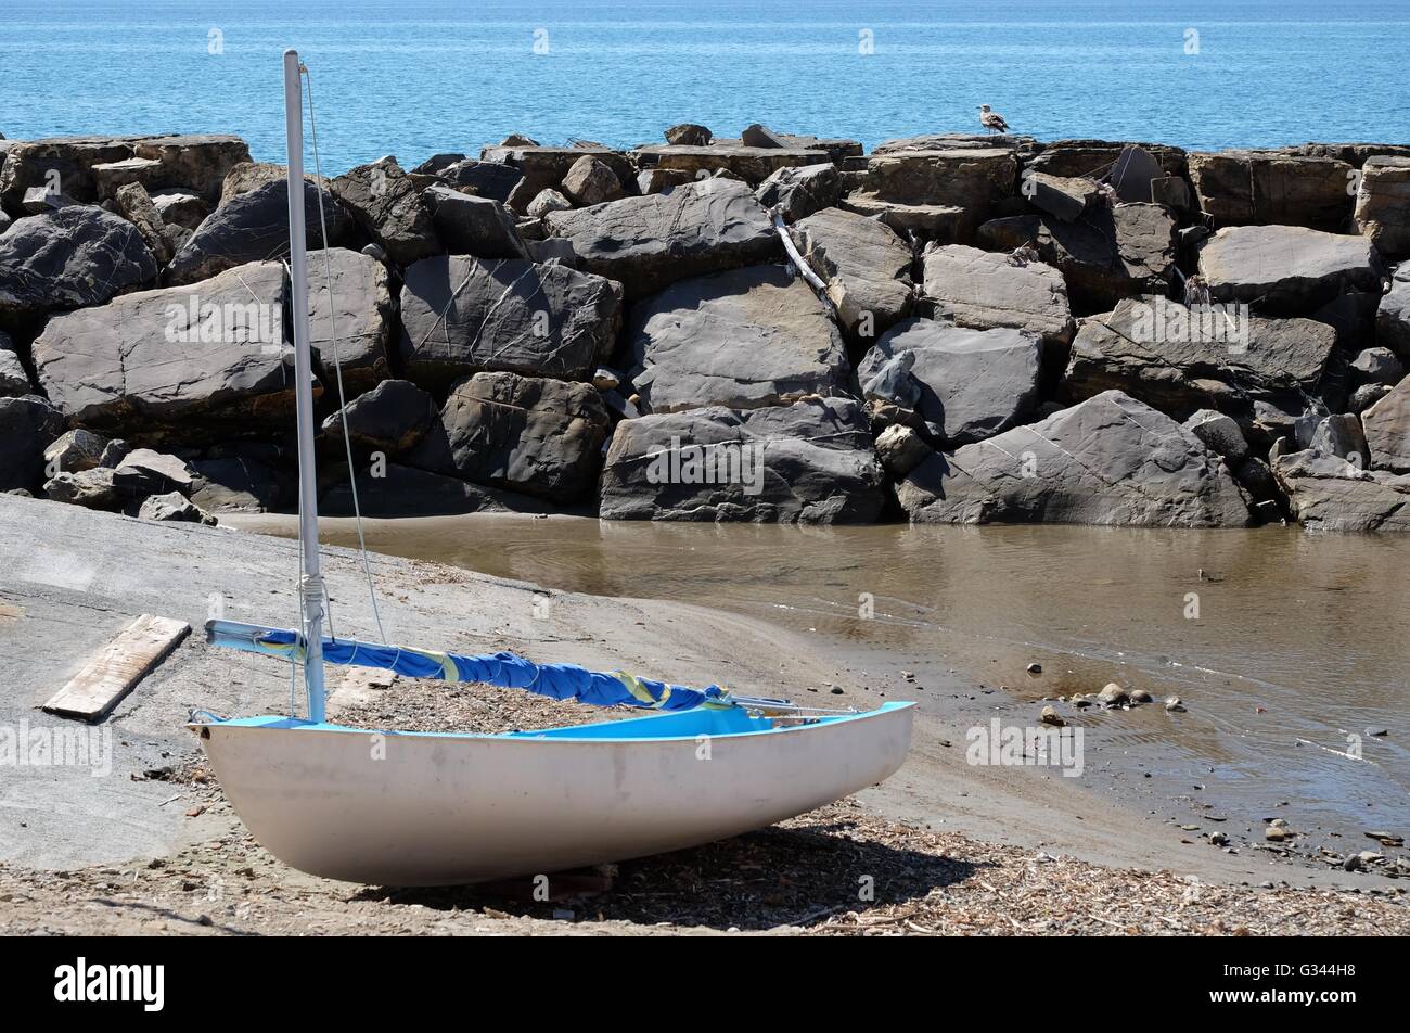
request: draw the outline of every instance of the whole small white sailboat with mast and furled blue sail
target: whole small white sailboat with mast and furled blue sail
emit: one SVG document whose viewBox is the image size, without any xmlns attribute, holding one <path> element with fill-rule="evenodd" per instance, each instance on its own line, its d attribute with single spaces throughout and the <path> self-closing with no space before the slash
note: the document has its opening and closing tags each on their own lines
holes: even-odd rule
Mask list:
<svg viewBox="0 0 1410 1033">
<path fill-rule="evenodd" d="M 193 714 L 235 813 L 300 871 L 431 886 L 547 875 L 701 845 L 807 813 L 893 775 L 914 703 L 804 707 L 626 672 L 412 649 L 324 635 L 303 210 L 307 69 L 283 55 L 289 275 L 299 429 L 302 627 L 210 621 L 207 641 L 302 665 L 305 717 Z M 312 86 L 310 86 L 312 100 Z M 314 154 L 316 150 L 314 138 Z M 647 715 L 503 734 L 351 728 L 327 721 L 324 665 L 520 689 Z"/>
</svg>

